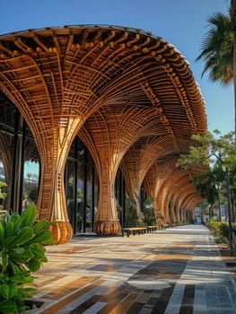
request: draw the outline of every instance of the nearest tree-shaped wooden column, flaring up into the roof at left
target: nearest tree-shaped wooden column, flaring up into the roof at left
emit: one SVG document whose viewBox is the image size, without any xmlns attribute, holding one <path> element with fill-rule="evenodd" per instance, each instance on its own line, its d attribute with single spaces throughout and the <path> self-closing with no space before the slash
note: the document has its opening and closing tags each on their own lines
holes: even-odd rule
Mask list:
<svg viewBox="0 0 236 314">
<path fill-rule="evenodd" d="M 6 37 L 0 45 L 0 89 L 21 111 L 38 146 L 39 219 L 57 221 L 52 227 L 55 239 L 65 243 L 73 235 L 64 188 L 66 157 L 84 120 L 106 101 L 96 95 L 103 81 L 97 66 L 90 66 L 94 62 L 89 57 L 92 44 L 87 46 L 83 30 L 77 30 L 75 39 L 69 29 L 57 31 L 26 31 Z M 101 32 L 95 34 L 99 34 L 96 49 L 101 53 Z M 97 85 L 92 91 L 94 81 Z"/>
</svg>

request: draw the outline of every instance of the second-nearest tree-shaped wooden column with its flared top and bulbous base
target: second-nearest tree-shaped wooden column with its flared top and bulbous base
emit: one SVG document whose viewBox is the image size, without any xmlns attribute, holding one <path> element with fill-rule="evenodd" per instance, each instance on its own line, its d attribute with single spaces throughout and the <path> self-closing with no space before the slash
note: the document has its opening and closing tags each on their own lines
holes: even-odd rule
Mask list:
<svg viewBox="0 0 236 314">
<path fill-rule="evenodd" d="M 88 118 L 78 135 L 92 153 L 100 179 L 99 205 L 93 231 L 101 235 L 118 234 L 115 179 L 118 166 L 131 144 L 139 137 L 140 126 L 153 109 L 122 106 L 103 107 Z M 137 123 L 138 122 L 138 123 Z"/>
</svg>

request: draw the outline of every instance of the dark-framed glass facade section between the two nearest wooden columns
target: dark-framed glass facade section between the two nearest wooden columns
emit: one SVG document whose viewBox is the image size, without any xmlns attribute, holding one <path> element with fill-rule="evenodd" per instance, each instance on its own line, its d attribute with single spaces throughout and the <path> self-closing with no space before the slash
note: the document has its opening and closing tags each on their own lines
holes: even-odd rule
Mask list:
<svg viewBox="0 0 236 314">
<path fill-rule="evenodd" d="M 99 180 L 92 156 L 76 137 L 66 162 L 66 204 L 74 233 L 92 232 Z"/>
</svg>

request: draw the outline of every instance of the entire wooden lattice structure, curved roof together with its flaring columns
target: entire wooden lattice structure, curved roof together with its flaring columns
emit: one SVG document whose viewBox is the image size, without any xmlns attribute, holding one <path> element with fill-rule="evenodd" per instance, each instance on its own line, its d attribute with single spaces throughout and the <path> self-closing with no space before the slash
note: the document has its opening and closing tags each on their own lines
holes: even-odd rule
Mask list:
<svg viewBox="0 0 236 314">
<path fill-rule="evenodd" d="M 73 234 L 64 170 L 78 135 L 100 179 L 94 231 L 117 234 L 114 182 L 122 170 L 130 196 L 141 185 L 170 221 L 200 196 L 191 171 L 175 167 L 192 134 L 206 130 L 205 103 L 188 61 L 150 32 L 75 25 L 0 36 L 0 90 L 21 111 L 40 154 L 39 218 L 57 220 L 58 243 Z M 2 144 L 3 145 L 3 144 Z M 7 158 L 7 157 L 6 157 Z"/>
</svg>

